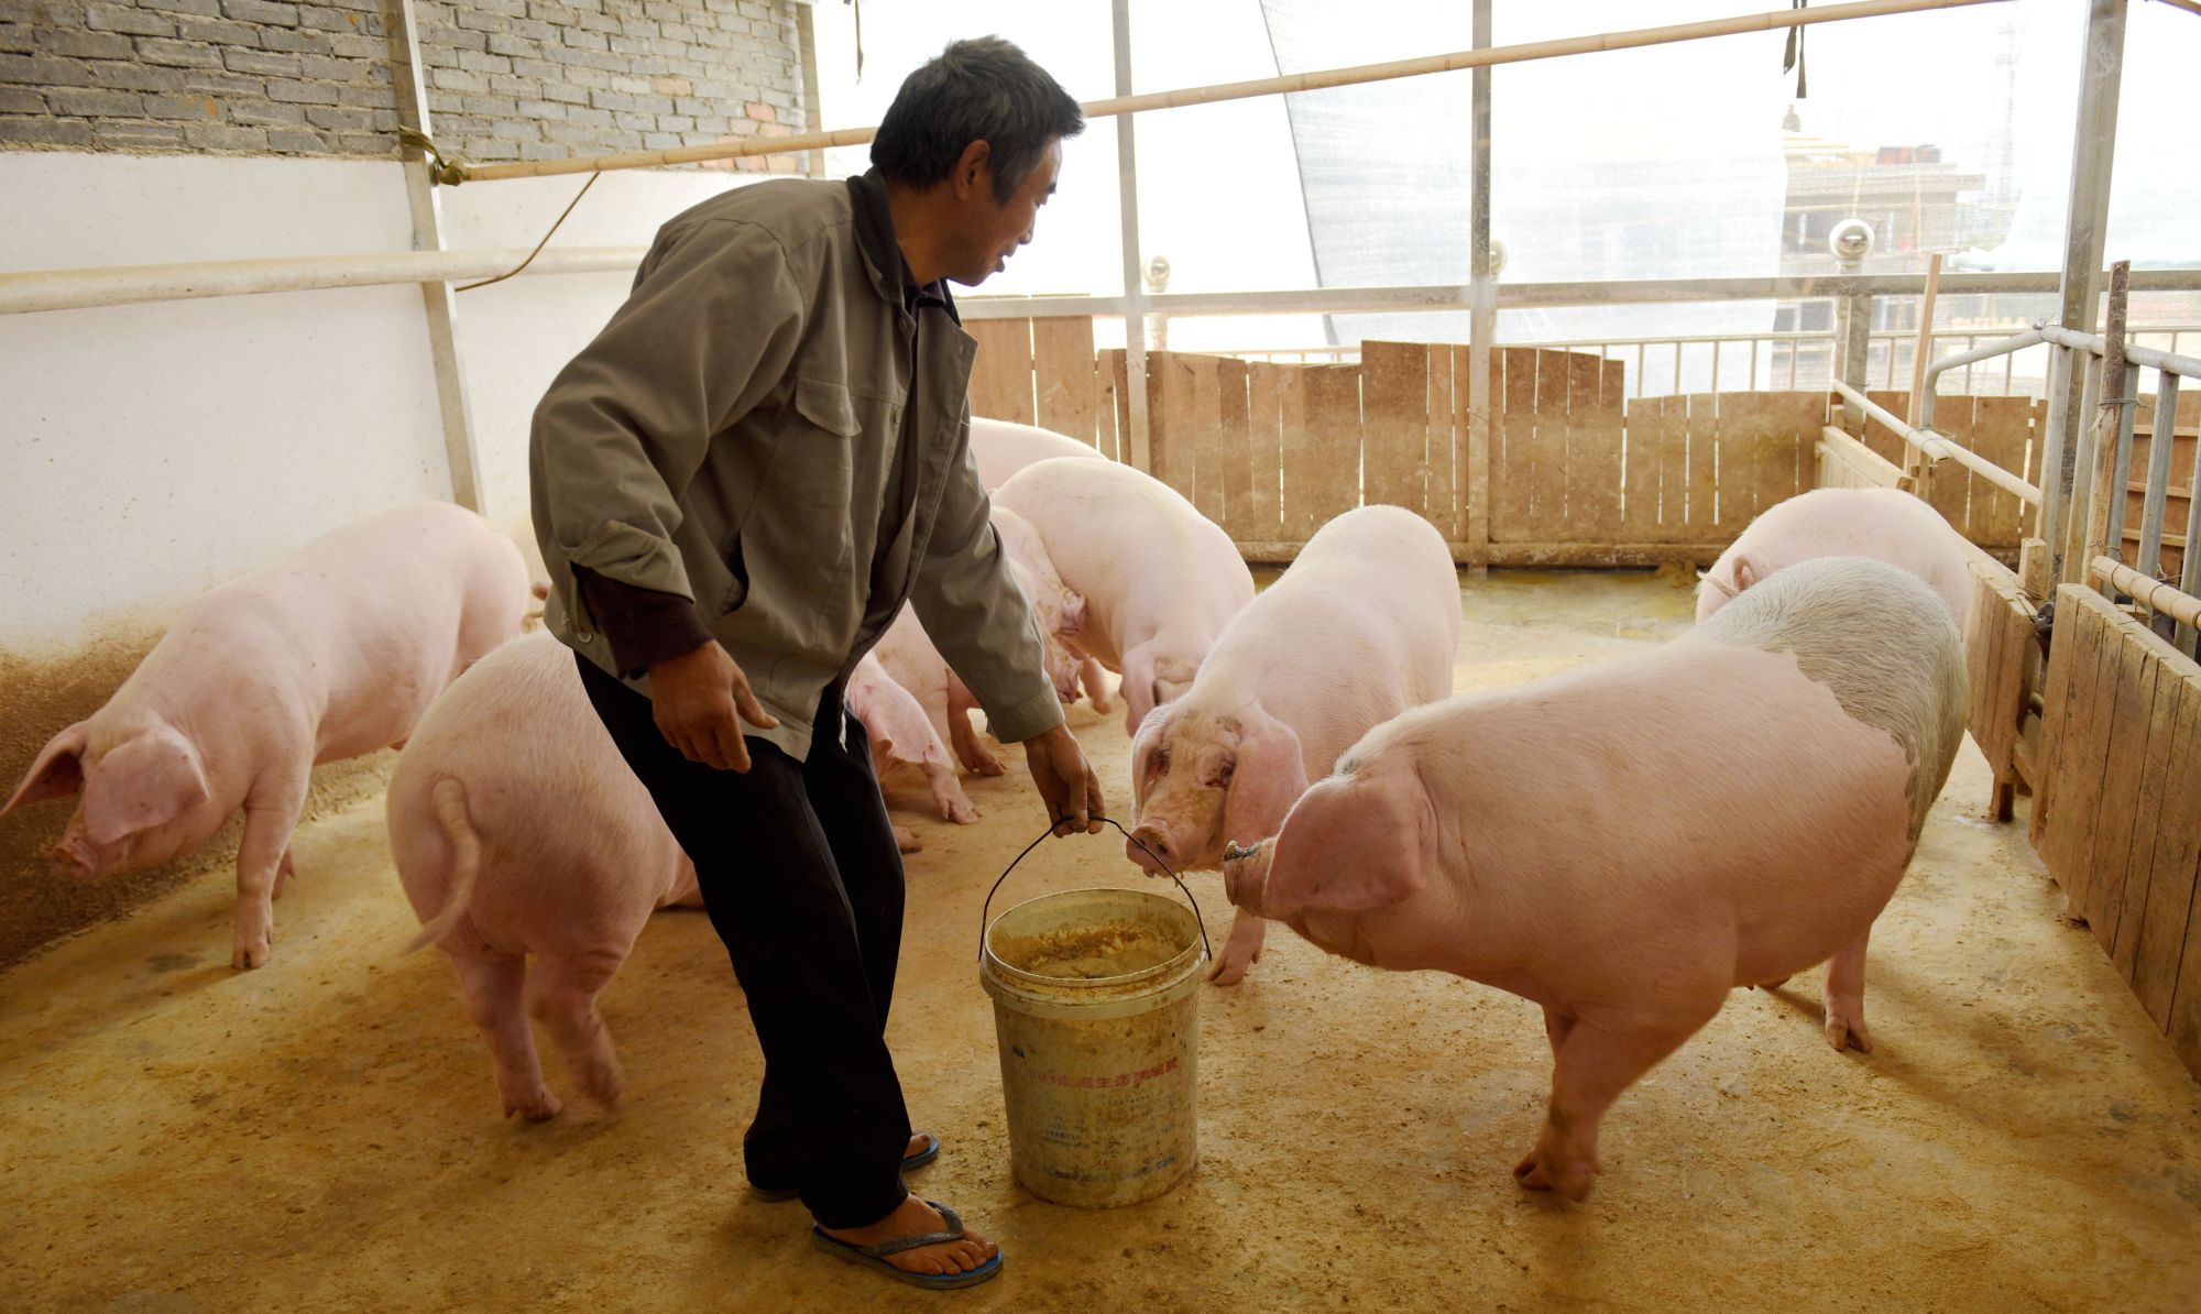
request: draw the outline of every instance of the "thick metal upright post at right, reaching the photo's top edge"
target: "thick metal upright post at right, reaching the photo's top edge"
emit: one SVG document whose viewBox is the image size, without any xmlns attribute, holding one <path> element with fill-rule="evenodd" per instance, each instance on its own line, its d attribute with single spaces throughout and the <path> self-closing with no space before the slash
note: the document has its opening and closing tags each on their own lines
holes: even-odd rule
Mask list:
<svg viewBox="0 0 2201 1314">
<path fill-rule="evenodd" d="M 2124 79 L 2124 9 L 2126 0 L 2091 0 L 2087 4 L 2087 40 L 2080 62 L 2078 125 L 2071 141 L 2071 191 L 2065 207 L 2065 269 L 2056 321 L 2078 332 L 2093 332 L 2095 304 L 2102 291 L 2102 255 L 2109 229 L 2109 172 L 2117 147 L 2117 90 Z M 2093 416 L 2080 409 L 2080 390 L 2067 387 L 2062 431 L 2084 436 Z M 2065 467 L 2056 482 L 2065 497 L 2080 493 L 2073 460 L 2082 442 L 2065 442 Z M 2043 471 L 2045 475 L 2045 471 Z M 2049 480 L 2043 478 L 2043 489 Z M 2065 513 L 2069 515 L 2069 506 Z M 2071 517 L 2065 524 L 2076 524 Z M 2087 566 L 2065 563 L 2062 537 L 2049 539 L 2058 552 L 2056 579 L 2084 581 Z"/>
</svg>

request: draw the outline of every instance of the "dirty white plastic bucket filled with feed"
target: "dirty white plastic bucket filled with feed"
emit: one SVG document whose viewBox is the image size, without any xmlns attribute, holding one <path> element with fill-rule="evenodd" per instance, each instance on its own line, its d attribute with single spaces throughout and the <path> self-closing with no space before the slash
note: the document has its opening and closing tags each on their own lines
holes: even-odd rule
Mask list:
<svg viewBox="0 0 2201 1314">
<path fill-rule="evenodd" d="M 1072 889 L 986 927 L 1017 1180 L 1056 1204 L 1162 1195 L 1200 1162 L 1197 913 L 1138 889 Z"/>
</svg>

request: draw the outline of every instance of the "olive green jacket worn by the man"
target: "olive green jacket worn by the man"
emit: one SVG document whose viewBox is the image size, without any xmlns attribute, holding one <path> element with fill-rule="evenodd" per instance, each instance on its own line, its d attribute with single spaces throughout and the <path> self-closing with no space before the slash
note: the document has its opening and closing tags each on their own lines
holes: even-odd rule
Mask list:
<svg viewBox="0 0 2201 1314">
<path fill-rule="evenodd" d="M 691 599 L 779 720 L 744 731 L 801 759 L 823 691 L 909 601 L 997 740 L 1054 729 L 971 458 L 975 352 L 953 302 L 907 308 L 876 176 L 759 183 L 676 216 L 535 407 L 550 632 L 618 674 L 574 566 Z"/>
</svg>

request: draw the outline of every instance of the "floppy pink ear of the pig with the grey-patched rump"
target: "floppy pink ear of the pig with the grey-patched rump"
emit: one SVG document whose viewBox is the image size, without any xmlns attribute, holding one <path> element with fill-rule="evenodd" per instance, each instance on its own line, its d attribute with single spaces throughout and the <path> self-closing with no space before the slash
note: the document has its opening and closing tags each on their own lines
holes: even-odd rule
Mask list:
<svg viewBox="0 0 2201 1314">
<path fill-rule="evenodd" d="M 1263 913 L 1369 913 L 1428 885 L 1428 792 L 1415 773 L 1332 777 L 1307 792 L 1277 839 Z"/>
</svg>

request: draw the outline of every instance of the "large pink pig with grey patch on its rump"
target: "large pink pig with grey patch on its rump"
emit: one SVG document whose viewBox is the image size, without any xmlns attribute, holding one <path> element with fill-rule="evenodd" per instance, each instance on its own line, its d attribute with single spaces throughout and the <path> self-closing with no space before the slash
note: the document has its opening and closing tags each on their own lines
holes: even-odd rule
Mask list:
<svg viewBox="0 0 2201 1314">
<path fill-rule="evenodd" d="M 1605 1109 L 1728 990 L 1827 962 L 1827 1041 L 1871 1050 L 1866 938 L 1963 700 L 1924 583 L 1805 561 L 1649 656 L 1378 726 L 1224 885 L 1332 953 L 1541 1004 L 1552 1103 L 1514 1175 L 1580 1200 Z"/>
</svg>

